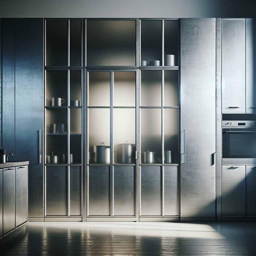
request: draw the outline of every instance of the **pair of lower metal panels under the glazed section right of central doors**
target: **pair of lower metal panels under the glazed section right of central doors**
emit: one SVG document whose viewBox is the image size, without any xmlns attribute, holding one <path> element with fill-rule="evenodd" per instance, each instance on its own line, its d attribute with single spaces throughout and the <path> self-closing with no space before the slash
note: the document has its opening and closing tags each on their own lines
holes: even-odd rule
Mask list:
<svg viewBox="0 0 256 256">
<path fill-rule="evenodd" d="M 178 166 L 141 166 L 140 218 L 178 217 L 178 183 Z"/>
</svg>

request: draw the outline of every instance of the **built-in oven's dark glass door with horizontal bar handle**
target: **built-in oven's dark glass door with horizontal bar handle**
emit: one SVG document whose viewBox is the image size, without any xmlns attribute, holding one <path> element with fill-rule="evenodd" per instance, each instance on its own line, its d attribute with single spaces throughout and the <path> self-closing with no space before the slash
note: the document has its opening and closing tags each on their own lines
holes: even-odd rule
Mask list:
<svg viewBox="0 0 256 256">
<path fill-rule="evenodd" d="M 256 164 L 256 129 L 222 129 L 222 163 Z"/>
</svg>

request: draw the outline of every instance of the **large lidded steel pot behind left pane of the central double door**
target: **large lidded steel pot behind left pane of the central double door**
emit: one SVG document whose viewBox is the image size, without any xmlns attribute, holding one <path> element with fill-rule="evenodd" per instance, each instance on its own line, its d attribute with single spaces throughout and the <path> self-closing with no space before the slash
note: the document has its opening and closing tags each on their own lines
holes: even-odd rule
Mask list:
<svg viewBox="0 0 256 256">
<path fill-rule="evenodd" d="M 90 163 L 110 164 L 110 146 L 104 145 L 104 142 L 99 146 L 91 146 Z"/>
</svg>

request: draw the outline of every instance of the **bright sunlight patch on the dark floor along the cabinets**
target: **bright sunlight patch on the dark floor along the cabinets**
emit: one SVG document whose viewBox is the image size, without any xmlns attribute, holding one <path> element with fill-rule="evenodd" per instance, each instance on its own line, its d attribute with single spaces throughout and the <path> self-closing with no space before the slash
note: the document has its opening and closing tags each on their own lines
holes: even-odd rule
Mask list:
<svg viewBox="0 0 256 256">
<path fill-rule="evenodd" d="M 81 238 L 143 237 L 177 239 L 225 239 L 221 233 L 205 223 L 183 222 L 29 222 L 28 231 L 44 229 L 44 233 L 80 233 Z"/>
</svg>

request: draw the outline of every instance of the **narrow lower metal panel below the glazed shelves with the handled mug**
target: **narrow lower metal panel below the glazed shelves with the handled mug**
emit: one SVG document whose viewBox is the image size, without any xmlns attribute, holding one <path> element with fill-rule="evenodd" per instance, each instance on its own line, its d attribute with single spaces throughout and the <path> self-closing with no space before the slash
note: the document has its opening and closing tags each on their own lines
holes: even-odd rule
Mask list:
<svg viewBox="0 0 256 256">
<path fill-rule="evenodd" d="M 81 166 L 69 167 L 69 216 L 81 216 L 82 212 Z"/>
</svg>

